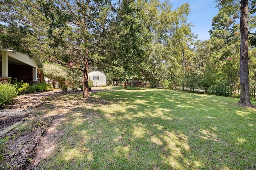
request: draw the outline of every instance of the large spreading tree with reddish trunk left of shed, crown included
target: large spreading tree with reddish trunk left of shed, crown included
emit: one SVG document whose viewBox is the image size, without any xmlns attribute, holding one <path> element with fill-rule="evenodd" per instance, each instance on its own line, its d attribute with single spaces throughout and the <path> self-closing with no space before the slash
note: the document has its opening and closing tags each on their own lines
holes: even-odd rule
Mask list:
<svg viewBox="0 0 256 170">
<path fill-rule="evenodd" d="M 108 34 L 112 9 L 109 0 L 2 0 L 0 20 L 8 27 L 28 27 L 32 31 L 38 40 L 34 46 L 24 43 L 19 47 L 30 57 L 40 55 L 81 70 L 83 97 L 88 98 L 89 64 L 100 60 L 97 53 Z"/>
</svg>

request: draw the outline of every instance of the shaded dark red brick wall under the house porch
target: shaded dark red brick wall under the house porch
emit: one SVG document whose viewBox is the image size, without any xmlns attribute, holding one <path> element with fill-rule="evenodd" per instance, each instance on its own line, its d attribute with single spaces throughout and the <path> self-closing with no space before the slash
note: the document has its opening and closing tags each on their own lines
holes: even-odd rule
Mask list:
<svg viewBox="0 0 256 170">
<path fill-rule="evenodd" d="M 23 82 L 32 82 L 33 81 L 33 67 L 28 65 L 15 65 L 8 64 L 9 76 L 17 78 L 18 82 L 23 80 Z"/>
</svg>

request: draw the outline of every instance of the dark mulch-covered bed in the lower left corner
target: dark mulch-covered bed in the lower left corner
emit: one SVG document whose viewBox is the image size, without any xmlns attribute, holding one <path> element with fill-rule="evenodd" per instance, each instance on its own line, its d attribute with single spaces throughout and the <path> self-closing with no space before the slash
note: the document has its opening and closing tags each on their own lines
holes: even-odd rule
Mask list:
<svg viewBox="0 0 256 170">
<path fill-rule="evenodd" d="M 17 128 L 1 137 L 2 162 L 1 169 L 25 169 L 29 160 L 35 156 L 46 129 L 50 126 L 53 117 L 26 120 Z M 26 168 L 27 169 L 27 168 Z"/>
</svg>

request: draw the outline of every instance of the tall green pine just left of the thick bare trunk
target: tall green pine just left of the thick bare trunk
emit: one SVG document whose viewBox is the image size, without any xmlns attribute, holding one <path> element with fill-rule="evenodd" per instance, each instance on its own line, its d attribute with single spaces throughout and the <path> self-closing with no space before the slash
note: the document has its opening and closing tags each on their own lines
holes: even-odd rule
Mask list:
<svg viewBox="0 0 256 170">
<path fill-rule="evenodd" d="M 240 32 L 237 23 L 238 12 L 229 14 L 220 9 L 212 19 L 212 53 L 215 56 L 216 74 L 219 81 L 235 87 L 239 82 Z"/>
</svg>

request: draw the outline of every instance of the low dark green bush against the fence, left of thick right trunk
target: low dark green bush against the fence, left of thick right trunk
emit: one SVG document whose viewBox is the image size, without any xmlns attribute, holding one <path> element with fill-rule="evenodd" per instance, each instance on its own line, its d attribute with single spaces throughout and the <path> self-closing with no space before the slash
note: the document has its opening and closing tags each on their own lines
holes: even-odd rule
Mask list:
<svg viewBox="0 0 256 170">
<path fill-rule="evenodd" d="M 232 96 L 232 89 L 222 85 L 212 85 L 208 88 L 208 94 L 217 96 Z"/>
</svg>

